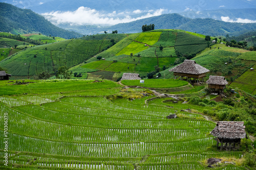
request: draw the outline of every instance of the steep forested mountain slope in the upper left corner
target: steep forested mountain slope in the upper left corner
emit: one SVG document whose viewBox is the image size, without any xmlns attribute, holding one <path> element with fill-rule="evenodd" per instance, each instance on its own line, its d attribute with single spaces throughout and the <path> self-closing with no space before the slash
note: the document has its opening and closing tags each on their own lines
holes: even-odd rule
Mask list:
<svg viewBox="0 0 256 170">
<path fill-rule="evenodd" d="M 19 33 L 41 33 L 63 38 L 76 38 L 82 35 L 54 26 L 43 16 L 28 9 L 20 9 L 7 3 L 0 3 L 0 31 Z"/>
</svg>

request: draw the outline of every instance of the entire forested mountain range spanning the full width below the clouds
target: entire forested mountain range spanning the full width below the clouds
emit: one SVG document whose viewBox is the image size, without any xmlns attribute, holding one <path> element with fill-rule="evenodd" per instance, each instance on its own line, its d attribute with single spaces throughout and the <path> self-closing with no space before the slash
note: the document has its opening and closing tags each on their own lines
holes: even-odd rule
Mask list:
<svg viewBox="0 0 256 170">
<path fill-rule="evenodd" d="M 229 34 L 238 36 L 242 33 L 256 30 L 256 23 L 225 22 L 212 18 L 191 19 L 180 14 L 162 14 L 127 23 L 118 23 L 114 26 L 76 26 L 69 23 L 54 26 L 43 16 L 28 9 L 20 9 L 10 4 L 0 3 L 0 31 L 19 33 L 42 33 L 44 35 L 59 36 L 66 39 L 92 35 L 112 33 L 138 33 L 143 25 L 154 23 L 155 29 L 181 29 L 190 32 L 197 32 L 204 35 L 219 36 Z M 244 11 L 245 12 L 245 11 Z"/>
</svg>

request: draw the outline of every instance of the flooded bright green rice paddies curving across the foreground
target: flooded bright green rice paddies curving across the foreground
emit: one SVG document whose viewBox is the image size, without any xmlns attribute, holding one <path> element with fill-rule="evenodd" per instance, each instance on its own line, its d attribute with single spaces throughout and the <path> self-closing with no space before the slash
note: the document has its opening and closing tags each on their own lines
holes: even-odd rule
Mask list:
<svg viewBox="0 0 256 170">
<path fill-rule="evenodd" d="M 0 97 L 0 117 L 8 115 L 10 139 L 5 169 L 205 169 L 207 158 L 238 160 L 243 154 L 215 150 L 209 135 L 215 123 L 180 111 L 201 113 L 210 107 L 168 102 L 173 98 L 149 100 L 154 96 L 143 88 L 129 89 L 146 94 L 142 99 L 110 101 L 106 98 L 122 88 L 111 81 L 34 82 L 1 83 L 5 91 L 22 93 Z M 166 119 L 171 113 L 178 117 Z M 1 159 L 5 153 L 0 150 Z"/>
</svg>

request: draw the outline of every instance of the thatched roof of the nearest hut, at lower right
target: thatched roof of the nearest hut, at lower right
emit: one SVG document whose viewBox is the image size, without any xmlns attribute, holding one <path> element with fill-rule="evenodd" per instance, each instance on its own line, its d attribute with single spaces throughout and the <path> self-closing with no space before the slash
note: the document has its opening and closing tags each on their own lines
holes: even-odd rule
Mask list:
<svg viewBox="0 0 256 170">
<path fill-rule="evenodd" d="M 210 134 L 216 137 L 230 139 L 242 139 L 246 137 L 244 122 L 218 122 Z"/>
</svg>

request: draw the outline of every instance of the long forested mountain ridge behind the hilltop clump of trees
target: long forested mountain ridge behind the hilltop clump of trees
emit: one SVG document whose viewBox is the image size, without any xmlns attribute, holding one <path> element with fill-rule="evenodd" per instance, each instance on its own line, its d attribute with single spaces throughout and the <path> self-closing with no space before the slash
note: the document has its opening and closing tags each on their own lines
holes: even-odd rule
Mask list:
<svg viewBox="0 0 256 170">
<path fill-rule="evenodd" d="M 141 27 L 143 25 L 150 25 L 151 23 L 154 23 L 155 29 L 181 29 L 211 36 L 225 36 L 226 34 L 238 36 L 256 29 L 256 23 L 224 22 L 211 18 L 190 19 L 176 13 L 119 23 L 111 27 L 68 26 L 68 28 L 81 34 L 97 34 L 104 31 L 111 33 L 114 30 L 117 30 L 118 33 L 138 33 L 142 31 Z M 62 25 L 61 27 L 65 28 L 67 25 Z"/>
</svg>

